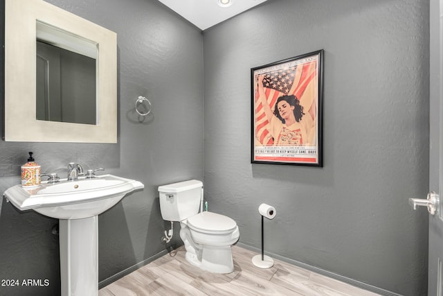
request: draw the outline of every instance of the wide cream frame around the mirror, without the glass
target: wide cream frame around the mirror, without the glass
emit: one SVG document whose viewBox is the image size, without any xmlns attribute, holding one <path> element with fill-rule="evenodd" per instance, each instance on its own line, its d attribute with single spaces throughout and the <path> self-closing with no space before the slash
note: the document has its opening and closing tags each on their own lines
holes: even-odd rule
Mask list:
<svg viewBox="0 0 443 296">
<path fill-rule="evenodd" d="M 42 0 L 5 3 L 5 141 L 117 143 L 117 35 Z M 37 121 L 37 21 L 98 46 L 96 125 Z"/>
</svg>

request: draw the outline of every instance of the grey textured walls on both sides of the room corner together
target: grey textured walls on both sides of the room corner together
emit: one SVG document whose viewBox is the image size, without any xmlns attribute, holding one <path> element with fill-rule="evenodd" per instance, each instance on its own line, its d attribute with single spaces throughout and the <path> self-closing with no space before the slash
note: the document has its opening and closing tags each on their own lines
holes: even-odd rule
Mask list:
<svg viewBox="0 0 443 296">
<path fill-rule="evenodd" d="M 278 212 L 265 221 L 266 251 L 426 295 L 427 214 L 407 198 L 428 190 L 427 1 L 270 0 L 204 38 L 155 0 L 48 2 L 118 34 L 118 144 L 0 141 L 0 192 L 19 183 L 29 150 L 44 171 L 75 160 L 143 182 L 100 215 L 100 280 L 164 250 L 156 186 L 204 176 L 210 209 L 237 221 L 241 243 L 260 247 L 266 202 Z M 324 167 L 251 165 L 249 69 L 318 49 Z M 144 121 L 139 94 L 154 105 Z M 51 286 L 0 294 L 57 295 L 56 223 L 2 200 L 0 279 Z"/>
</svg>

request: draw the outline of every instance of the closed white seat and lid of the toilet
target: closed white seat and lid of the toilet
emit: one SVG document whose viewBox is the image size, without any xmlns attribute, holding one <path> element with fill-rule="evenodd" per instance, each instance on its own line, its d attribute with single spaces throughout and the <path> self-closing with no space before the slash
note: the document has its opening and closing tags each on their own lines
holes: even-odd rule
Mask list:
<svg viewBox="0 0 443 296">
<path fill-rule="evenodd" d="M 188 218 L 188 227 L 205 234 L 229 234 L 237 228 L 237 223 L 227 216 L 203 211 Z"/>
</svg>

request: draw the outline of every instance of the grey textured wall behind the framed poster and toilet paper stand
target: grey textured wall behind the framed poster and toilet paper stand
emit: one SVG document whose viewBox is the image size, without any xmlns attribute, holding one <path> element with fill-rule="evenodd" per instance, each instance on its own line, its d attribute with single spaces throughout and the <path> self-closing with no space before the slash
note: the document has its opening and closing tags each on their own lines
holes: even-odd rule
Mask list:
<svg viewBox="0 0 443 296">
<path fill-rule="evenodd" d="M 205 192 L 240 242 L 426 295 L 429 4 L 273 0 L 204 32 Z M 324 167 L 250 163 L 250 68 L 325 50 Z"/>
</svg>

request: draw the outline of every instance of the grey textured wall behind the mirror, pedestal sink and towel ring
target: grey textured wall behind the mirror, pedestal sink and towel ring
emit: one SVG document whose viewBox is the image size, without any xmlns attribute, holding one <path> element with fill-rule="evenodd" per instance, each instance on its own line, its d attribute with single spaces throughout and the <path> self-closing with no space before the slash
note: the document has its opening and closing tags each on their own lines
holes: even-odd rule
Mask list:
<svg viewBox="0 0 443 296">
<path fill-rule="evenodd" d="M 203 180 L 203 38 L 156 0 L 48 2 L 118 35 L 118 144 L 0 141 L 0 193 L 19 184 L 28 151 L 44 172 L 64 175 L 66 164 L 75 161 L 85 169 L 104 167 L 105 173 L 143 182 L 144 191 L 100 215 L 102 281 L 165 250 L 157 186 Z M 3 73 L 1 78 L 3 89 Z M 148 96 L 153 105 L 144 120 L 134 110 L 138 95 Z M 0 279 L 49 279 L 50 286 L 0 286 L 0 295 L 60 293 L 58 237 L 51 234 L 56 224 L 33 211 L 19 212 L 1 199 Z"/>
</svg>

